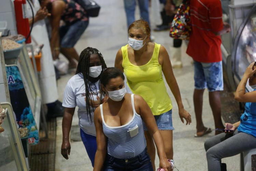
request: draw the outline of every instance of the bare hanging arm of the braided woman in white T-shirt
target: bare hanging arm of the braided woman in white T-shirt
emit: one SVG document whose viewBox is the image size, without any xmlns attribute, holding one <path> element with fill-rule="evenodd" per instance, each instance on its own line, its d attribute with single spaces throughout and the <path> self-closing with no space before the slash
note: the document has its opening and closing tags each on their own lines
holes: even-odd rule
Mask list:
<svg viewBox="0 0 256 171">
<path fill-rule="evenodd" d="M 64 158 L 69 159 L 70 154 L 70 143 L 69 143 L 69 133 L 72 124 L 72 119 L 74 115 L 75 108 L 66 108 L 62 119 L 62 145 L 61 154 Z"/>
</svg>

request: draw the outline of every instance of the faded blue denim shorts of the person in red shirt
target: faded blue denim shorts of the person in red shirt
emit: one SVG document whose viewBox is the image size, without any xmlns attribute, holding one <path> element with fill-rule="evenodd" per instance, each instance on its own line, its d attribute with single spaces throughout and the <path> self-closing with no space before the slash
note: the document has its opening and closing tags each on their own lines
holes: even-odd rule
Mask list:
<svg viewBox="0 0 256 171">
<path fill-rule="evenodd" d="M 209 92 L 223 90 L 222 61 L 204 63 L 194 61 L 195 89 Z"/>
</svg>

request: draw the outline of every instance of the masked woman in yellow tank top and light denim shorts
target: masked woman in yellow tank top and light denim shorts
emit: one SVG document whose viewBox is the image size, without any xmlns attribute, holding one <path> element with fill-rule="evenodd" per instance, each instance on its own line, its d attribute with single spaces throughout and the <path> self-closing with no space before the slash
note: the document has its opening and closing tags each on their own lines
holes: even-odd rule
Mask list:
<svg viewBox="0 0 256 171">
<path fill-rule="evenodd" d="M 150 27 L 144 20 L 134 21 L 128 28 L 128 34 L 128 44 L 119 49 L 116 54 L 115 67 L 125 73 L 132 93 L 141 95 L 150 106 L 164 140 L 166 156 L 173 159 L 172 102 L 162 73 L 176 99 L 181 121 L 184 123 L 185 119 L 186 124 L 190 124 L 191 116 L 183 107 L 168 52 L 160 44 L 150 42 Z M 145 137 L 148 154 L 155 169 L 154 142 L 147 131 L 145 131 Z"/>
</svg>

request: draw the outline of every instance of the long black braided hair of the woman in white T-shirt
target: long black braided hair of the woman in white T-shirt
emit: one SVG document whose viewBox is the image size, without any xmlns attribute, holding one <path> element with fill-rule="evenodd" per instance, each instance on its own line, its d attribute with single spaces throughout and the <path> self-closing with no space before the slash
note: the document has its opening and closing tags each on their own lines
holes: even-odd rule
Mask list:
<svg viewBox="0 0 256 171">
<path fill-rule="evenodd" d="M 100 61 L 101 61 L 101 65 L 102 65 L 102 71 L 104 71 L 107 68 L 106 63 L 103 59 L 103 56 L 99 52 L 99 50 L 96 49 L 96 48 L 87 47 L 80 54 L 79 61 L 78 61 L 78 64 L 77 64 L 76 73 L 75 73 L 75 74 L 79 74 L 79 73 L 83 74 L 84 84 L 85 84 L 86 111 L 87 111 L 87 118 L 88 118 L 88 121 L 89 121 L 90 124 L 93 121 L 93 118 L 90 114 L 91 113 L 90 109 L 93 108 L 93 110 L 95 110 L 94 107 L 90 106 L 90 100 L 92 102 L 94 102 L 93 94 L 90 93 L 90 92 L 93 92 L 93 90 L 91 90 L 91 86 L 89 85 L 90 56 L 92 54 L 97 54 L 99 56 Z M 100 87 L 100 81 L 99 81 L 99 87 Z M 100 95 L 100 100 L 101 100 L 101 95 Z"/>
</svg>

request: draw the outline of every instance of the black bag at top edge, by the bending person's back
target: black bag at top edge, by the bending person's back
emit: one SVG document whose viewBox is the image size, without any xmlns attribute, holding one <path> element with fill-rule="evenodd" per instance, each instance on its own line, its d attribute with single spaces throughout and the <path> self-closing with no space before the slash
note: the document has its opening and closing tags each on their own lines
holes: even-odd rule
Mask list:
<svg viewBox="0 0 256 171">
<path fill-rule="evenodd" d="M 94 0 L 74 0 L 78 3 L 90 17 L 98 17 L 100 13 L 100 5 Z"/>
</svg>

